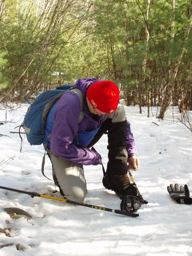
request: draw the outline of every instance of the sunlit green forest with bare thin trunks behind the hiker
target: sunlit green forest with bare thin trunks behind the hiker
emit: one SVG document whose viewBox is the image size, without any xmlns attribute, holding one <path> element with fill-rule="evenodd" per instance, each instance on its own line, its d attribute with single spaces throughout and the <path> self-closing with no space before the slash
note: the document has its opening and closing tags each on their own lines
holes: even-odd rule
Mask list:
<svg viewBox="0 0 192 256">
<path fill-rule="evenodd" d="M 192 0 L 0 0 L 0 103 L 95 77 L 192 110 L 191 26 Z"/>
</svg>

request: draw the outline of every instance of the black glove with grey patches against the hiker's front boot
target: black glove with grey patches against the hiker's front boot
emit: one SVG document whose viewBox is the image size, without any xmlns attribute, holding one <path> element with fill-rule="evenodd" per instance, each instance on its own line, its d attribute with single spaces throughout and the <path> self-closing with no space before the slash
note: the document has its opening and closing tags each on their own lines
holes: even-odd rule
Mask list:
<svg viewBox="0 0 192 256">
<path fill-rule="evenodd" d="M 140 196 L 138 189 L 133 184 L 130 184 L 124 189 L 124 193 L 121 198 L 121 210 L 129 212 L 138 211 L 138 209 L 144 203 L 144 200 L 142 196 Z"/>
</svg>

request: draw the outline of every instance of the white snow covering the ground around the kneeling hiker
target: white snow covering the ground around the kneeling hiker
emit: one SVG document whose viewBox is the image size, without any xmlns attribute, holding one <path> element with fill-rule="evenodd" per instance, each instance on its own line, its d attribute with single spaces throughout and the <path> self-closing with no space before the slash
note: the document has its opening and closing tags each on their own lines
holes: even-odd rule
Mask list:
<svg viewBox="0 0 192 256">
<path fill-rule="evenodd" d="M 0 185 L 37 191 L 60 197 L 53 181 L 41 174 L 42 146 L 30 146 L 14 129 L 22 123 L 27 105 L 7 112 L 0 106 L 1 155 Z M 192 196 L 192 134 L 181 124 L 177 108 L 167 111 L 164 121 L 147 118 L 146 108 L 125 107 L 134 133 L 140 169 L 132 172 L 143 198 L 148 201 L 131 218 L 0 189 L 0 255 L 192 255 L 192 205 L 174 202 L 167 193 L 170 183 L 187 184 Z M 156 122 L 158 125 L 156 125 Z M 22 130 L 23 132 L 23 130 Z M 24 134 L 23 134 L 24 137 Z M 106 167 L 107 138 L 96 145 Z M 88 195 L 85 203 L 119 209 L 120 199 L 102 186 L 102 168 L 84 166 Z M 46 158 L 45 173 L 51 178 L 51 164 Z M 31 220 L 11 219 L 3 210 L 18 207 L 27 211 Z M 17 250 L 16 244 L 25 246 Z"/>
</svg>

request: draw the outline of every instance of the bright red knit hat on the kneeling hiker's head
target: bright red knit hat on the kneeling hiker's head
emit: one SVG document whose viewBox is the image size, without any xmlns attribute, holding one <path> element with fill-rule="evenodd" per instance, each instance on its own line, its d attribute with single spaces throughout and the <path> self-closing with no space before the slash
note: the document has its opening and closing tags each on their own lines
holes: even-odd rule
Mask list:
<svg viewBox="0 0 192 256">
<path fill-rule="evenodd" d="M 117 109 L 119 89 L 112 81 L 95 82 L 88 88 L 87 98 L 95 109 L 110 114 Z"/>
</svg>

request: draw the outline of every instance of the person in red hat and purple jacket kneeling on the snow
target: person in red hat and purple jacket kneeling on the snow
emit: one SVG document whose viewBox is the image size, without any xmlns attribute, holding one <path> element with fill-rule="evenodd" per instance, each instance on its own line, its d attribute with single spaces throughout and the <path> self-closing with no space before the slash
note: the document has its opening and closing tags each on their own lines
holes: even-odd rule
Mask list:
<svg viewBox="0 0 192 256">
<path fill-rule="evenodd" d="M 48 137 L 51 134 L 47 153 L 60 194 L 68 200 L 84 200 L 87 186 L 83 165 L 101 164 L 101 156 L 90 148 L 107 133 L 109 161 L 103 185 L 120 197 L 122 210 L 137 211 L 143 200 L 130 184 L 127 162 L 134 170 L 139 162 L 130 123 L 118 104 L 118 87 L 112 81 L 88 78 L 77 80 L 74 88 L 82 93 L 82 104 L 75 92 L 65 92 L 53 104 L 45 130 Z"/>
</svg>

